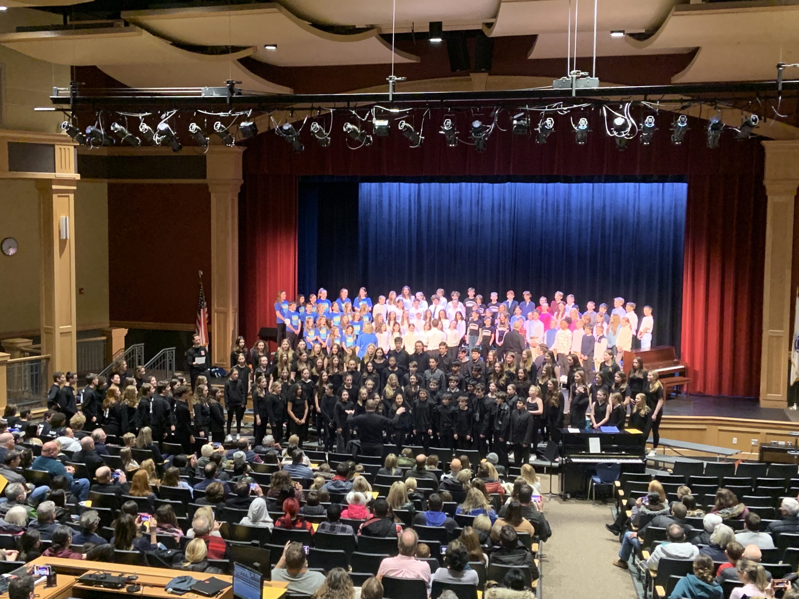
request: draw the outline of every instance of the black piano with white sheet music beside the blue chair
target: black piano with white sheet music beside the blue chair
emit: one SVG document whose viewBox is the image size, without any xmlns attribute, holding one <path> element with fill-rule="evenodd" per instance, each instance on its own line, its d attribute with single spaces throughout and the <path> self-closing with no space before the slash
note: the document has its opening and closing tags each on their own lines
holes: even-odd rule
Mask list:
<svg viewBox="0 0 799 599">
<path fill-rule="evenodd" d="M 618 433 L 603 433 L 594 430 L 562 433 L 562 478 L 561 493 L 566 498 L 587 497 L 588 479 L 594 474 L 598 463 L 613 463 L 621 466 L 622 472 L 645 472 L 646 437 L 642 432 L 626 430 Z M 594 446 L 597 439 L 599 450 Z"/>
</svg>

